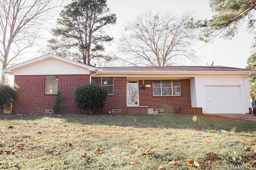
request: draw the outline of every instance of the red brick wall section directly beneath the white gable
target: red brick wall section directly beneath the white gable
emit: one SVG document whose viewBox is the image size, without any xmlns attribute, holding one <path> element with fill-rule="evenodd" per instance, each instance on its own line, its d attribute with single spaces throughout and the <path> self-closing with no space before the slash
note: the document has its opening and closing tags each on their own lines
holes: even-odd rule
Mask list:
<svg viewBox="0 0 256 170">
<path fill-rule="evenodd" d="M 89 82 L 90 75 L 59 75 L 58 88 L 62 90 L 64 100 L 60 113 L 88 113 L 78 109 L 74 103 L 74 90 L 80 84 Z M 14 76 L 17 97 L 12 113 L 45 113 L 53 109 L 56 94 L 45 94 L 46 75 Z"/>
</svg>

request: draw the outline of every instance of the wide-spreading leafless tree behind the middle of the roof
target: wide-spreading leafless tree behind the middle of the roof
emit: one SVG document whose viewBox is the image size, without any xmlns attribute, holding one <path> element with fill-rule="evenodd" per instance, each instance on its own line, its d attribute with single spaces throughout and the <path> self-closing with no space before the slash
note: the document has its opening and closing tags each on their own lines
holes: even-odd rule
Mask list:
<svg viewBox="0 0 256 170">
<path fill-rule="evenodd" d="M 193 29 L 186 29 L 190 15 L 178 18 L 171 14 L 156 15 L 145 12 L 125 25 L 119 41 L 120 50 L 126 53 L 123 61 L 137 66 L 180 65 L 184 60 L 195 61 L 192 50 Z"/>
</svg>

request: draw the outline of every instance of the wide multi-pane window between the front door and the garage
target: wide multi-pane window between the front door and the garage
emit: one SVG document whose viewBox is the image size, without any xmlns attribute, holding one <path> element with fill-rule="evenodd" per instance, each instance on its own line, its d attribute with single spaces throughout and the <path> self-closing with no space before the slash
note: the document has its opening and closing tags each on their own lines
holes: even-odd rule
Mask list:
<svg viewBox="0 0 256 170">
<path fill-rule="evenodd" d="M 180 80 L 153 80 L 153 96 L 181 96 Z"/>
</svg>

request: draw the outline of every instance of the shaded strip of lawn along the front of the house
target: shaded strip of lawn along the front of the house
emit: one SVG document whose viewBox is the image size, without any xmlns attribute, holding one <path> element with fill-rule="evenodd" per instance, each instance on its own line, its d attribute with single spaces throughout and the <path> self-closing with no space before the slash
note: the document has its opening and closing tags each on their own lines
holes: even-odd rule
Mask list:
<svg viewBox="0 0 256 170">
<path fill-rule="evenodd" d="M 81 114 L 9 114 L 0 115 L 0 119 L 7 121 L 40 121 L 44 118 L 60 119 L 67 123 L 78 123 L 84 125 L 106 125 L 120 127 L 138 128 L 174 128 L 194 129 L 200 131 L 224 130 L 228 132 L 255 133 L 256 123 L 254 121 L 216 117 L 212 115 L 81 115 Z"/>
</svg>

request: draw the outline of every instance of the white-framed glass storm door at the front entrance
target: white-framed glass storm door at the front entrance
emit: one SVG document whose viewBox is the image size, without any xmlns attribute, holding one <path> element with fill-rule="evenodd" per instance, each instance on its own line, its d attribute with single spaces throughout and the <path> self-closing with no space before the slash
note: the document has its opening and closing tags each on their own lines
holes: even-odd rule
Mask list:
<svg viewBox="0 0 256 170">
<path fill-rule="evenodd" d="M 139 106 L 138 81 L 127 82 L 127 106 Z"/>
</svg>

